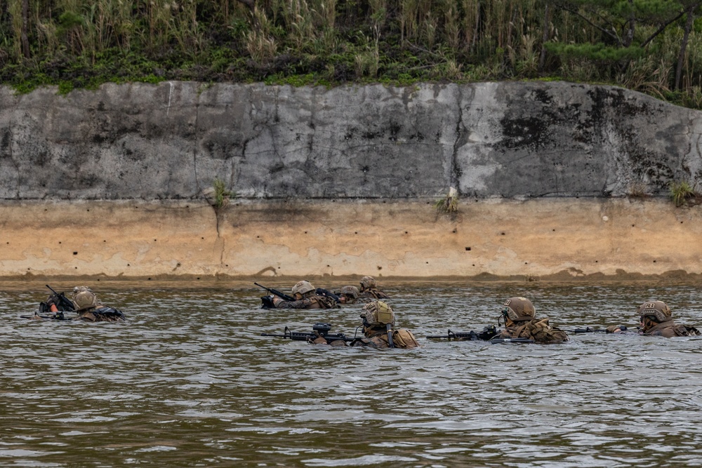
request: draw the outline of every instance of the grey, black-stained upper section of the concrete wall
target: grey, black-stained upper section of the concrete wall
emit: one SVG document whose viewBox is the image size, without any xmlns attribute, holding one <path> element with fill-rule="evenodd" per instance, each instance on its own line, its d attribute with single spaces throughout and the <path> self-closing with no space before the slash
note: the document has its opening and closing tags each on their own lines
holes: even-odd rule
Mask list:
<svg viewBox="0 0 702 468">
<path fill-rule="evenodd" d="M 0 199 L 661 195 L 701 188 L 701 117 L 573 83 L 0 88 Z"/>
</svg>

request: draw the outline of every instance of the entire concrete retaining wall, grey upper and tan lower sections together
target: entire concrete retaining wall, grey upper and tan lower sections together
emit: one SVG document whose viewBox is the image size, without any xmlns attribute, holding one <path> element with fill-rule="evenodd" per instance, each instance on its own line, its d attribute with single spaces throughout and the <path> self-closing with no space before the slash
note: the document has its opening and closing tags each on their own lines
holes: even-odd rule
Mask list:
<svg viewBox="0 0 702 468">
<path fill-rule="evenodd" d="M 571 83 L 0 88 L 0 278 L 696 278 L 701 208 L 665 196 L 701 187 L 701 116 Z"/>
</svg>

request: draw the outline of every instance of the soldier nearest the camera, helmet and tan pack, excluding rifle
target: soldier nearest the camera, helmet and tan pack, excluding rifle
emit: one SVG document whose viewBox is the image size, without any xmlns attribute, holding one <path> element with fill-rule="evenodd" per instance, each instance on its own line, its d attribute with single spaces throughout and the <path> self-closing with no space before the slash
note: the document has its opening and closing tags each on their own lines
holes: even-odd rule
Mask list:
<svg viewBox="0 0 702 468">
<path fill-rule="evenodd" d="M 392 312 L 390 306 L 385 302 L 373 301 L 364 305 L 361 317 L 363 319 L 363 334 L 365 337 L 352 341 L 351 346 L 389 348 L 389 329 L 392 335 L 392 347 L 400 349 L 419 347 L 419 343 L 410 330 L 406 328 L 395 330 L 392 328 L 395 325 L 395 312 Z"/>
</svg>

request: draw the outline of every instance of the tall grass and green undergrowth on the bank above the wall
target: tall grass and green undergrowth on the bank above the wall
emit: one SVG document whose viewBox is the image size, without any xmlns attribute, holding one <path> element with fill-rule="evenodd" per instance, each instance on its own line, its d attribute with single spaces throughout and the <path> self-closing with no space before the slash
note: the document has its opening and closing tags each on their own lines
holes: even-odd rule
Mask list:
<svg viewBox="0 0 702 468">
<path fill-rule="evenodd" d="M 27 15 L 22 3 L 0 2 L 0 82 L 25 91 L 71 80 L 81 86 L 558 77 L 702 106 L 699 28 L 689 36 L 680 90 L 674 81 L 682 20 L 638 58 L 584 58 L 549 48 L 541 66 L 544 41 L 603 41 L 602 29 L 550 0 L 29 0 Z M 657 27 L 637 23 L 634 42 Z"/>
</svg>

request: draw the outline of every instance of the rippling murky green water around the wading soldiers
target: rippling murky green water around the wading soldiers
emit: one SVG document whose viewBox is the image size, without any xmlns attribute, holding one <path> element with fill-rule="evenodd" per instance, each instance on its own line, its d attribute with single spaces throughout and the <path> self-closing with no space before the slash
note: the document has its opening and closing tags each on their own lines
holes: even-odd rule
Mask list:
<svg viewBox="0 0 702 468">
<path fill-rule="evenodd" d="M 425 339 L 495 323 L 512 295 L 564 329 L 635 326 L 654 298 L 702 326 L 697 285 L 381 283 L 423 345 L 409 351 L 262 337 L 314 321 L 353 335 L 358 307 L 267 311 L 253 284 L 91 286 L 129 321 L 26 321 L 44 283 L 0 285 L 0 466 L 702 464 L 702 337 Z"/>
</svg>

